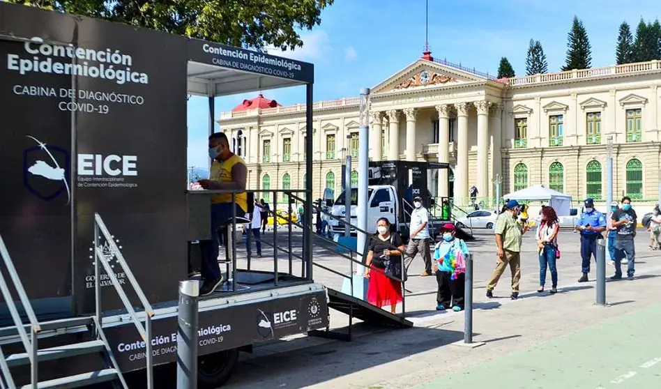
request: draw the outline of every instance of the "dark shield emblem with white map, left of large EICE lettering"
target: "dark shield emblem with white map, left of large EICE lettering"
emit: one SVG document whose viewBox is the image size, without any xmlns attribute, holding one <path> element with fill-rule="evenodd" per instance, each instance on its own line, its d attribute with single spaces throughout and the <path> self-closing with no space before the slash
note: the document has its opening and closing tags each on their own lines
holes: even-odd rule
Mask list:
<svg viewBox="0 0 661 389">
<path fill-rule="evenodd" d="M 23 182 L 36 197 L 50 201 L 63 195 L 69 204 L 69 153 L 63 148 L 40 144 L 23 153 Z"/>
</svg>

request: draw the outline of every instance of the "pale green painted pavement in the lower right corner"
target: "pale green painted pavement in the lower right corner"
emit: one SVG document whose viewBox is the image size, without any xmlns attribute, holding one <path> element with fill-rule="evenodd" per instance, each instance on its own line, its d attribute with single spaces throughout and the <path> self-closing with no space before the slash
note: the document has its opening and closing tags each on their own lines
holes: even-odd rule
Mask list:
<svg viewBox="0 0 661 389">
<path fill-rule="evenodd" d="M 568 331 L 574 330 L 570 321 L 565 323 Z M 658 389 L 660 323 L 661 305 L 655 305 L 416 389 Z M 479 353 L 480 349 L 471 352 Z M 430 363 L 436 370 L 443 368 L 440 361 Z"/>
</svg>

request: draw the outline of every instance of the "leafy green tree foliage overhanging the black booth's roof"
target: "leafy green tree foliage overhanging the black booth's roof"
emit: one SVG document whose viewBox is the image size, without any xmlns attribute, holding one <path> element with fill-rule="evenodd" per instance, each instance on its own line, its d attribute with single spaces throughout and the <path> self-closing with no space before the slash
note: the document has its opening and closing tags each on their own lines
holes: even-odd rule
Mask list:
<svg viewBox="0 0 661 389">
<path fill-rule="evenodd" d="M 8 0 L 225 43 L 264 49 L 303 46 L 297 31 L 321 23 L 335 0 Z"/>
</svg>

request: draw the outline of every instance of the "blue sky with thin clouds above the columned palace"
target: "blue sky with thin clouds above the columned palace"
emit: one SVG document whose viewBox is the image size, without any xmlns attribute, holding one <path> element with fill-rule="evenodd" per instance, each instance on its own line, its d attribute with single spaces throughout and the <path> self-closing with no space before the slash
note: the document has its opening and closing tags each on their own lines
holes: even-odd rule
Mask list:
<svg viewBox="0 0 661 389">
<path fill-rule="evenodd" d="M 615 63 L 618 27 L 641 17 L 658 17 L 658 0 L 429 0 L 432 55 L 452 63 L 496 74 L 506 56 L 517 75 L 524 75 L 529 40 L 540 40 L 549 72 L 565 61 L 567 33 L 577 15 L 588 31 L 592 66 Z M 420 58 L 425 45 L 425 0 L 335 0 L 321 14 L 321 25 L 302 31 L 304 45 L 294 52 L 271 54 L 312 62 L 314 100 L 357 96 Z M 247 95 L 217 98 L 215 117 L 230 111 Z M 264 91 L 282 105 L 304 102 L 301 87 Z M 188 164 L 206 166 L 206 98 L 188 103 Z"/>
</svg>

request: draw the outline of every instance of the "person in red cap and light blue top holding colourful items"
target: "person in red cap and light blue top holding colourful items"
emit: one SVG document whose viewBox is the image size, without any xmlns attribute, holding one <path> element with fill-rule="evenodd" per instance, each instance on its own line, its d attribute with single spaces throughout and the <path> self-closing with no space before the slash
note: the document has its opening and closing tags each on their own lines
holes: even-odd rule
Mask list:
<svg viewBox="0 0 661 389">
<path fill-rule="evenodd" d="M 434 247 L 433 270 L 439 283 L 436 310 L 439 311 L 449 307 L 455 312 L 464 309 L 464 272 L 469 250 L 464 241 L 455 238 L 455 232 L 453 224 L 444 224 L 443 240 Z"/>
</svg>

